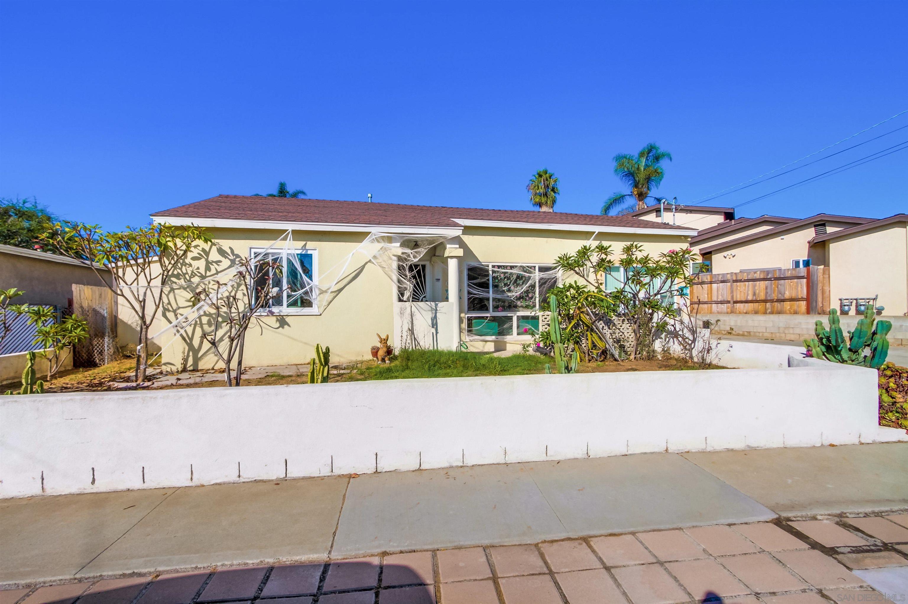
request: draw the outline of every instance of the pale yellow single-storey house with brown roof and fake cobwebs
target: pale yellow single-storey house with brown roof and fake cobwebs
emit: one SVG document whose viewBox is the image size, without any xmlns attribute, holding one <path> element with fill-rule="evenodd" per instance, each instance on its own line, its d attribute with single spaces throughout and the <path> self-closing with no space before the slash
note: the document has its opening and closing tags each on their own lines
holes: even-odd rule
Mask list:
<svg viewBox="0 0 908 604">
<path fill-rule="evenodd" d="M 226 280 L 236 258 L 256 253 L 284 265 L 282 286 L 296 294 L 253 324 L 244 353 L 250 366 L 305 363 L 316 344 L 331 346 L 333 360 L 368 357 L 376 333 L 399 347 L 519 348 L 540 327 L 539 304 L 558 284 L 552 264 L 559 255 L 599 241 L 616 253 L 638 242 L 655 255 L 685 247 L 696 234 L 633 216 L 232 195 L 152 218 L 208 229 L 214 244 L 193 255 L 195 278 Z M 396 258 L 407 254 L 420 257 L 401 268 Z M 300 295 L 307 287 L 312 295 Z M 165 322 L 197 301 L 188 290 L 175 290 Z M 216 365 L 202 342 L 206 325 L 184 321 L 177 339 L 163 336 L 164 364 Z"/>
</svg>

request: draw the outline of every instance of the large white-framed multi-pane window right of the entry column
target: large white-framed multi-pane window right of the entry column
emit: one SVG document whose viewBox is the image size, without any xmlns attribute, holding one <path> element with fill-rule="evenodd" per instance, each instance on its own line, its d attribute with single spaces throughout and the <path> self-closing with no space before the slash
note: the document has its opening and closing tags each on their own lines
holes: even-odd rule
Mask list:
<svg viewBox="0 0 908 604">
<path fill-rule="evenodd" d="M 558 270 L 544 264 L 468 264 L 467 333 L 520 337 L 539 333 L 539 305 L 558 285 Z"/>
</svg>

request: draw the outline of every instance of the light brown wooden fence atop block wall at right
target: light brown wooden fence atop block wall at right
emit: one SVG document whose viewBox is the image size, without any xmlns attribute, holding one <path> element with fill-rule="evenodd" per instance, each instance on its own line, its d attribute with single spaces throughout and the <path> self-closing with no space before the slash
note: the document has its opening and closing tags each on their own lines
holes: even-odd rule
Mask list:
<svg viewBox="0 0 908 604">
<path fill-rule="evenodd" d="M 822 315 L 829 309 L 829 269 L 703 273 L 690 288 L 690 302 L 711 314 Z"/>
</svg>

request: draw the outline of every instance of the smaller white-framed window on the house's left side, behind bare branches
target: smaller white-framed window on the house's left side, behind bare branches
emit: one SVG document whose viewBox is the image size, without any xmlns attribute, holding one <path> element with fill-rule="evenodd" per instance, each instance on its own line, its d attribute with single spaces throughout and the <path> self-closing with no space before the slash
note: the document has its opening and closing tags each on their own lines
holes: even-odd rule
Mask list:
<svg viewBox="0 0 908 604">
<path fill-rule="evenodd" d="M 271 312 L 315 315 L 318 307 L 318 253 L 315 249 L 251 249 L 255 258 L 256 290 L 268 286 L 279 290 L 271 299 Z"/>
</svg>

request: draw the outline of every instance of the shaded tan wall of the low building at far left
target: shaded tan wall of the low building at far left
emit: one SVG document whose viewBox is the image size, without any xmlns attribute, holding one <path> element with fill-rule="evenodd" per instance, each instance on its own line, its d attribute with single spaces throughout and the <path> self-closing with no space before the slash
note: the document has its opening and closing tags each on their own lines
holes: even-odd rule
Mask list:
<svg viewBox="0 0 908 604">
<path fill-rule="evenodd" d="M 25 291 L 25 295 L 15 298 L 16 304 L 66 307 L 73 297 L 74 283 L 104 286 L 91 268 L 0 250 L 0 288 Z"/>
</svg>

